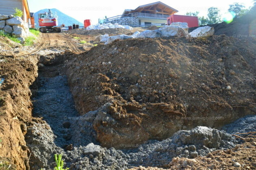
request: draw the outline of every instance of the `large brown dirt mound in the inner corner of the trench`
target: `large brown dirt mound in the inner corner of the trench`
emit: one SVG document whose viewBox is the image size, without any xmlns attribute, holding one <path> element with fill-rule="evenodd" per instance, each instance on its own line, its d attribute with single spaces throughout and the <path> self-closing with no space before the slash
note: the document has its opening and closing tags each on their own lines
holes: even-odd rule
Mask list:
<svg viewBox="0 0 256 170">
<path fill-rule="evenodd" d="M 93 122 L 98 140 L 124 148 L 255 113 L 255 46 L 224 35 L 132 39 L 65 63 L 79 113 L 105 104 Z"/>
</svg>

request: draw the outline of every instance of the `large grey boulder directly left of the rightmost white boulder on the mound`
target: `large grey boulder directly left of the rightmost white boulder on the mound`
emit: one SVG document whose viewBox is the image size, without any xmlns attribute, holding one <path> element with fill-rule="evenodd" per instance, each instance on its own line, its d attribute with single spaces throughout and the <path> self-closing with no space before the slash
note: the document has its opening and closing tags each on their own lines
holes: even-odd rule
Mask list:
<svg viewBox="0 0 256 170">
<path fill-rule="evenodd" d="M 163 26 L 158 29 L 161 32 L 161 36 L 178 36 L 189 37 L 189 33 L 179 26 Z"/>
</svg>

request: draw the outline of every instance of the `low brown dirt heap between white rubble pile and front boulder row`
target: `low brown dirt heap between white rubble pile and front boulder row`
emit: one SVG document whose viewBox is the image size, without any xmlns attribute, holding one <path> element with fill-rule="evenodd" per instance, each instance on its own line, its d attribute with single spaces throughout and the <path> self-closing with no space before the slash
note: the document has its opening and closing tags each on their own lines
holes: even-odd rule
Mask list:
<svg viewBox="0 0 256 170">
<path fill-rule="evenodd" d="M 119 35 L 119 34 L 132 34 L 134 31 L 127 30 L 124 28 L 108 28 L 108 29 L 102 29 L 102 30 L 86 30 L 86 29 L 75 29 L 75 30 L 69 30 L 69 34 L 81 34 L 81 35 Z"/>
</svg>

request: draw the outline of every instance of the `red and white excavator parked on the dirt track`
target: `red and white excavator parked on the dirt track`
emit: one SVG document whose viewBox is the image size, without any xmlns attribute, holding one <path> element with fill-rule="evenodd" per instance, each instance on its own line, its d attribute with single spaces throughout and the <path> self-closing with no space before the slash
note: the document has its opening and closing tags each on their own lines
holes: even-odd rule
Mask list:
<svg viewBox="0 0 256 170">
<path fill-rule="evenodd" d="M 58 18 L 52 15 L 52 11 L 49 9 L 48 13 L 38 14 L 39 31 L 42 33 L 46 32 L 61 32 L 58 26 Z"/>
</svg>

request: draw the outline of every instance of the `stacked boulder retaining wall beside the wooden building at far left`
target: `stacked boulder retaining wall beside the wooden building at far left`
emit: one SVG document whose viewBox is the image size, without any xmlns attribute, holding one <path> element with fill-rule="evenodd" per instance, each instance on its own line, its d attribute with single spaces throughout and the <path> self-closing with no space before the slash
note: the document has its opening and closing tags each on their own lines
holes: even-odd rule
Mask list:
<svg viewBox="0 0 256 170">
<path fill-rule="evenodd" d="M 19 37 L 21 43 L 24 42 L 24 38 L 31 36 L 28 24 L 21 17 L 14 17 L 13 15 L 0 15 L 0 30 Z"/>
</svg>

